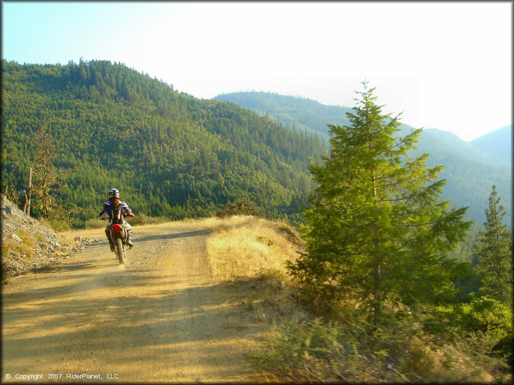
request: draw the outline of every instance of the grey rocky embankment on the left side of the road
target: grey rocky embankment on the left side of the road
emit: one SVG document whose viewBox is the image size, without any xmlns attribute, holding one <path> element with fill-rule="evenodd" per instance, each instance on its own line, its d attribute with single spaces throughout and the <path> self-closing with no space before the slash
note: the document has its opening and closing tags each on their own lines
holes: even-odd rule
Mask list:
<svg viewBox="0 0 514 385">
<path fill-rule="evenodd" d="M 77 237 L 71 244 L 40 221 L 27 217 L 4 196 L 1 199 L 2 279 L 62 263 L 96 239 Z"/>
</svg>

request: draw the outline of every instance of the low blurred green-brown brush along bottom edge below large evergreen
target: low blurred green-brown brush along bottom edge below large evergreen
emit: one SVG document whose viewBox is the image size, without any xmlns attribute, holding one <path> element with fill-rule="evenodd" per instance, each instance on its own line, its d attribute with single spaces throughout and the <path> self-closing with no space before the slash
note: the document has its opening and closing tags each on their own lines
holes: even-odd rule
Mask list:
<svg viewBox="0 0 514 385">
<path fill-rule="evenodd" d="M 392 316 L 378 326 L 367 323 L 356 310 L 347 310 L 339 321 L 318 318 L 289 323 L 266 337 L 262 347 L 251 350 L 247 358 L 259 370 L 277 377 L 273 380 L 300 383 L 487 378 L 483 367 L 476 367 L 451 345 L 437 345 L 412 318 Z"/>
</svg>

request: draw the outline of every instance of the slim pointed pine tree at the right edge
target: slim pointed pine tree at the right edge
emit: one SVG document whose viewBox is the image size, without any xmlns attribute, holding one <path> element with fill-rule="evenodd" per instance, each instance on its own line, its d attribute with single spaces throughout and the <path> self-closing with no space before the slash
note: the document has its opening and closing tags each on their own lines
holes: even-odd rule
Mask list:
<svg viewBox="0 0 514 385">
<path fill-rule="evenodd" d="M 496 186 L 492 186 L 484 229 L 479 229 L 473 253 L 478 258 L 475 272 L 482 279 L 480 291 L 503 304 L 511 305 L 512 234 L 502 223 L 505 209 L 500 205 Z"/>
</svg>

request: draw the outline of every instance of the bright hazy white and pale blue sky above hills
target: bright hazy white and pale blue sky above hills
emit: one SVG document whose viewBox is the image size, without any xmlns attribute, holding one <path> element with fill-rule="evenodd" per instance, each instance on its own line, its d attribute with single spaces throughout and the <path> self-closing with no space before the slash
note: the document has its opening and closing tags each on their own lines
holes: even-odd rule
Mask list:
<svg viewBox="0 0 514 385">
<path fill-rule="evenodd" d="M 197 98 L 233 91 L 382 112 L 471 140 L 512 120 L 512 2 L 2 1 L 2 58 L 121 62 Z M 327 122 L 331 123 L 331 122 Z"/>
</svg>

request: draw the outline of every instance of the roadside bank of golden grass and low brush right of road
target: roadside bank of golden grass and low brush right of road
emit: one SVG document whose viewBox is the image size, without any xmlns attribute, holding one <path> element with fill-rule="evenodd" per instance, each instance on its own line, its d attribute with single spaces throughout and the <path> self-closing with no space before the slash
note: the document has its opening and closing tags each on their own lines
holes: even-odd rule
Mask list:
<svg viewBox="0 0 514 385">
<path fill-rule="evenodd" d="M 266 337 L 248 349 L 271 382 L 511 380 L 507 360 L 493 354 L 491 333 L 455 333 L 441 342 L 419 322 L 392 320 L 371 337 L 352 306 L 331 315 L 309 312 L 287 274 L 287 261 L 303 250 L 287 224 L 244 216 L 200 223 L 212 229 L 207 253 L 214 279 L 237 285 L 248 310 L 267 324 Z"/>
</svg>

